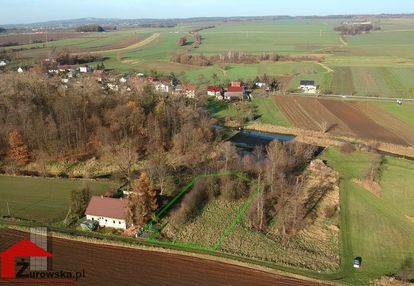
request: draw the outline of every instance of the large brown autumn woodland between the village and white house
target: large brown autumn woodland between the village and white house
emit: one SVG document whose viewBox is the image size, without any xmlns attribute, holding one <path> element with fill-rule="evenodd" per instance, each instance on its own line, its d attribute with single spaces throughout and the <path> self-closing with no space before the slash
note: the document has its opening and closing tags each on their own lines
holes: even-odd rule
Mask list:
<svg viewBox="0 0 414 286">
<path fill-rule="evenodd" d="M 203 110 L 150 86 L 105 93 L 93 77 L 65 88 L 59 78 L 16 73 L 1 74 L 0 81 L 0 159 L 18 165 L 114 160 L 131 179 L 147 158 L 164 190 L 171 170 L 201 168 L 213 148 L 212 122 Z"/>
</svg>

